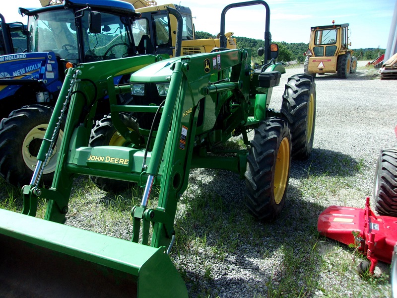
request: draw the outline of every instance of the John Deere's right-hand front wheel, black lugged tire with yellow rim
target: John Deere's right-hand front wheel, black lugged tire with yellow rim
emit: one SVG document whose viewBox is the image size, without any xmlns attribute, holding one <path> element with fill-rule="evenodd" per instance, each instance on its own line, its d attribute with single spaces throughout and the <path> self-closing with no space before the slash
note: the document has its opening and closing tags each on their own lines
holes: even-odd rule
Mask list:
<svg viewBox="0 0 397 298">
<path fill-rule="evenodd" d="M 247 156 L 246 205 L 258 220 L 271 221 L 285 204 L 291 165 L 288 122 L 271 117 L 261 121 Z"/>
</svg>

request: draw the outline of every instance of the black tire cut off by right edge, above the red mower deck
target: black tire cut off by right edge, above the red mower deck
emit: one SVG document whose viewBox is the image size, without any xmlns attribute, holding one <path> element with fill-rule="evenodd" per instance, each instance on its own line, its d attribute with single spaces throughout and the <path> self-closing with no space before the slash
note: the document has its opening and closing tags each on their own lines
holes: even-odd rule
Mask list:
<svg viewBox="0 0 397 298">
<path fill-rule="evenodd" d="M 397 217 L 397 149 L 383 149 L 379 154 L 374 201 L 379 214 Z"/>
</svg>

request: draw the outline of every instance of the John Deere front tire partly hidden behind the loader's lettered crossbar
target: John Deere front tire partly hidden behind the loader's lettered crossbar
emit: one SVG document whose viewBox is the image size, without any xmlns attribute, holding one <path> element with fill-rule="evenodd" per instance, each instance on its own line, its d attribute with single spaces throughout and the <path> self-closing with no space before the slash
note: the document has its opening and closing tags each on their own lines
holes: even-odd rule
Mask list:
<svg viewBox="0 0 397 298">
<path fill-rule="evenodd" d="M 139 132 L 139 126 L 135 118 L 125 113 L 120 113 L 120 118 L 130 130 Z M 123 146 L 125 142 L 126 139 L 113 126 L 110 115 L 105 115 L 104 118 L 96 121 L 94 128 L 91 130 L 89 146 Z M 117 193 L 132 188 L 135 185 L 133 182 L 96 176 L 90 176 L 90 179 L 98 188 L 106 192 Z"/>
</svg>

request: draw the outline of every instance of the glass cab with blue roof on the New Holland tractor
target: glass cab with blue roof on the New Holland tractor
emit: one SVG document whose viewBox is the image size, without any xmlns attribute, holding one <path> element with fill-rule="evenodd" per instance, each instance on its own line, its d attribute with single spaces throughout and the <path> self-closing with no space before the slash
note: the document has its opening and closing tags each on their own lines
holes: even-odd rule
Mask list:
<svg viewBox="0 0 397 298">
<path fill-rule="evenodd" d="M 57 60 L 73 65 L 135 55 L 132 4 L 64 2 L 64 5 L 19 9 L 21 15 L 28 16 L 28 52 L 52 51 Z"/>
</svg>

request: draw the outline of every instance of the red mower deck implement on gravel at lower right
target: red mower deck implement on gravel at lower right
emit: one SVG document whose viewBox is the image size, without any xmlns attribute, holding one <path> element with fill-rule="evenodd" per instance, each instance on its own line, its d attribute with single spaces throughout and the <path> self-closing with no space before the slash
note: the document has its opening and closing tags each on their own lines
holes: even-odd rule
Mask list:
<svg viewBox="0 0 397 298">
<path fill-rule="evenodd" d="M 376 216 L 370 208 L 369 198 L 364 209 L 328 207 L 320 214 L 317 229 L 326 237 L 347 245 L 360 243 L 359 251 L 371 261 L 370 273 L 374 273 L 378 260 L 392 262 L 397 243 L 397 218 Z M 356 239 L 353 231 L 357 232 Z"/>
</svg>

